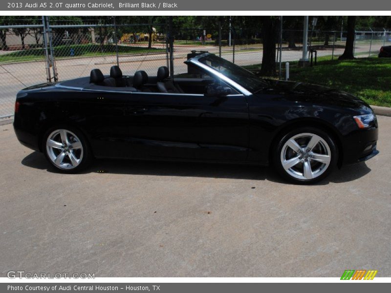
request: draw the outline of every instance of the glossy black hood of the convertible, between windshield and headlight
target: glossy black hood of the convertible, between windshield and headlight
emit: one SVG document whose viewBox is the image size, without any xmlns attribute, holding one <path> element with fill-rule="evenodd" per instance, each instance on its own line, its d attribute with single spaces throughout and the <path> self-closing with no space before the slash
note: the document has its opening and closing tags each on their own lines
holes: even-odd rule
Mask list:
<svg viewBox="0 0 391 293">
<path fill-rule="evenodd" d="M 356 96 L 327 86 L 277 80 L 266 80 L 266 82 L 269 86 L 262 90 L 262 94 L 272 94 L 276 99 L 361 108 L 364 111 L 370 109 L 367 103 Z"/>
</svg>

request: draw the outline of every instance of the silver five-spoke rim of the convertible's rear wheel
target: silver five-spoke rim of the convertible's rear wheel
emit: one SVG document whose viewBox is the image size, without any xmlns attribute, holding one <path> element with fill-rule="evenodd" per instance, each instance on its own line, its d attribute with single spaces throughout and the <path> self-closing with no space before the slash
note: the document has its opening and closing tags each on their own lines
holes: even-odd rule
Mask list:
<svg viewBox="0 0 391 293">
<path fill-rule="evenodd" d="M 46 139 L 46 153 L 51 163 L 63 170 L 78 167 L 83 160 L 83 144 L 75 133 L 56 129 Z"/>
</svg>

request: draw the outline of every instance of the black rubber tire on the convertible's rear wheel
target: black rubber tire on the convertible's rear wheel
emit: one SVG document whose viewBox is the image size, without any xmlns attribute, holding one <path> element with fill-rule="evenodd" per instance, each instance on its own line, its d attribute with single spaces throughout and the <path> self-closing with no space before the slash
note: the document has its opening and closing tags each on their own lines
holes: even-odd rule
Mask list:
<svg viewBox="0 0 391 293">
<path fill-rule="evenodd" d="M 51 145 L 49 145 L 48 142 L 49 136 L 53 138 L 50 143 L 54 141 L 54 142 L 59 142 L 61 144 L 62 142 L 62 136 L 60 134 L 60 132 L 62 132 L 61 130 L 65 130 L 66 133 L 65 137 L 68 138 L 69 145 L 65 146 L 65 148 L 63 149 L 57 147 L 51 147 Z M 56 131 L 59 131 L 59 133 L 56 134 Z M 77 145 L 77 148 L 72 148 L 72 145 L 75 145 L 75 143 L 78 142 L 80 142 L 80 144 Z M 89 146 L 89 143 L 85 135 L 79 129 L 71 126 L 66 126 L 66 125 L 57 125 L 47 129 L 42 139 L 42 151 L 43 154 L 45 155 L 46 160 L 50 163 L 50 165 L 53 166 L 57 171 L 61 173 L 71 173 L 71 174 L 78 173 L 84 170 L 85 168 L 87 168 L 91 164 L 93 159 L 91 147 Z M 53 159 L 56 156 L 56 154 L 60 154 L 60 153 L 65 153 L 63 163 L 56 164 Z M 76 159 L 73 161 L 73 162 L 77 162 L 77 165 L 75 163 L 76 166 L 73 166 L 71 157 Z"/>
</svg>

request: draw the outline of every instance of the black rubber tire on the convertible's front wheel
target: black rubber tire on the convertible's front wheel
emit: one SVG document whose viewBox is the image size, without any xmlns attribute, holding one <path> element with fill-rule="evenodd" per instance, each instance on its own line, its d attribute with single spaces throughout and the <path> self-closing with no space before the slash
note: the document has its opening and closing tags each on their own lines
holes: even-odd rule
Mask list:
<svg viewBox="0 0 391 293">
<path fill-rule="evenodd" d="M 314 151 L 308 151 L 308 145 L 305 145 L 307 143 L 306 140 L 308 141 L 307 144 L 309 144 L 309 141 L 312 138 L 309 134 L 313 135 L 314 141 L 319 139 L 319 137 L 321 138 L 319 143 L 314 146 Z M 290 146 L 287 146 L 287 144 L 292 142 L 291 139 L 297 143 L 297 146 L 301 147 L 299 151 L 295 151 Z M 315 149 L 318 151 L 315 151 Z M 289 155 L 291 157 L 289 157 Z M 318 159 L 321 157 L 319 155 L 324 156 L 326 160 L 324 162 L 319 162 Z M 328 155 L 330 158 L 327 158 Z M 285 132 L 277 139 L 271 157 L 276 171 L 285 180 L 295 184 L 312 184 L 325 179 L 335 168 L 338 161 L 338 149 L 332 136 L 324 130 L 315 127 L 299 127 Z M 299 159 L 300 162 L 297 163 L 297 165 L 290 168 L 287 167 L 290 166 L 289 160 L 293 164 Z M 284 166 L 288 169 L 285 169 L 282 164 L 285 164 Z M 307 167 L 308 165 L 310 166 L 309 168 Z M 302 167 L 303 173 L 301 173 Z M 315 169 L 315 171 L 312 171 L 312 169 Z M 305 176 L 307 174 L 310 175 Z M 313 178 L 311 178 L 312 176 Z"/>
</svg>

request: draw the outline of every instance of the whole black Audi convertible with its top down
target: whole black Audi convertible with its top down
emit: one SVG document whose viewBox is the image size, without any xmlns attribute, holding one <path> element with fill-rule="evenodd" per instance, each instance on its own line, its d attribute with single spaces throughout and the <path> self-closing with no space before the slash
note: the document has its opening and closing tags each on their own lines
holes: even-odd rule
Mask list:
<svg viewBox="0 0 391 293">
<path fill-rule="evenodd" d="M 286 179 L 312 183 L 333 167 L 378 153 L 372 109 L 342 91 L 263 80 L 210 53 L 149 77 L 104 76 L 39 84 L 16 98 L 19 141 L 58 170 L 76 172 L 92 158 L 273 165 Z"/>
</svg>

